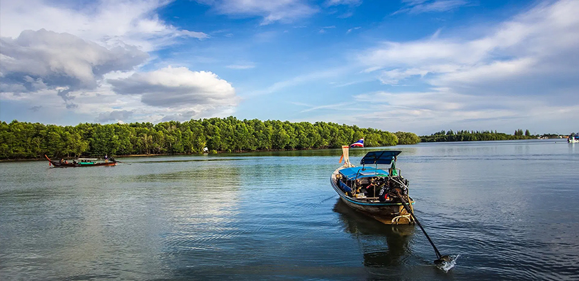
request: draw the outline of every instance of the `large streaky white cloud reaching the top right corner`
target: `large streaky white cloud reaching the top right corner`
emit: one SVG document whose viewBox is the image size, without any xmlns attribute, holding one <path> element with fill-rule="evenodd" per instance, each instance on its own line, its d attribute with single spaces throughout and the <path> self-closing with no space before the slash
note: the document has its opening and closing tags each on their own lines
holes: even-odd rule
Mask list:
<svg viewBox="0 0 579 281">
<path fill-rule="evenodd" d="M 529 84 L 558 88 L 557 79 L 579 75 L 574 67 L 579 57 L 573 55 L 579 50 L 577 13 L 578 1 L 558 1 L 500 23 L 484 37 L 387 41 L 359 59 L 368 72 L 384 69 L 384 84 L 420 75 L 432 86 L 457 93 L 488 95 L 502 86 L 501 95 L 522 95 Z M 570 85 L 579 88 L 579 81 L 566 81 Z"/>
</svg>

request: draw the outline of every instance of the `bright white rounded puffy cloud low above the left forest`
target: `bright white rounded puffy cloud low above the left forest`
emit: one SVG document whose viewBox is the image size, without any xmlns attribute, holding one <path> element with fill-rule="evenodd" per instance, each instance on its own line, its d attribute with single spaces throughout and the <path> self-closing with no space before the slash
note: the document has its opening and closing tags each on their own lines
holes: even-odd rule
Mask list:
<svg viewBox="0 0 579 281">
<path fill-rule="evenodd" d="M 115 93 L 139 95 L 149 106 L 187 108 L 189 106 L 236 106 L 238 97 L 227 81 L 212 72 L 191 71 L 168 66 L 131 77 L 108 79 Z"/>
</svg>

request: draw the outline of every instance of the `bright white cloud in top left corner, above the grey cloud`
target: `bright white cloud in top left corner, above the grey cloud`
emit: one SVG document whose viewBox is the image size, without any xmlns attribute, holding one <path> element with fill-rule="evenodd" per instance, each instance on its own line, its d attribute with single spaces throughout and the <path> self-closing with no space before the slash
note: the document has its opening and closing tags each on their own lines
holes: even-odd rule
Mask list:
<svg viewBox="0 0 579 281">
<path fill-rule="evenodd" d="M 42 28 L 66 32 L 103 46 L 137 46 L 157 50 L 175 38 L 206 39 L 200 31 L 182 30 L 159 19 L 155 10 L 167 0 L 101 0 L 79 6 L 75 1 L 2 1 L 0 34 L 18 37 Z M 82 8 L 79 8 L 82 7 Z"/>
</svg>

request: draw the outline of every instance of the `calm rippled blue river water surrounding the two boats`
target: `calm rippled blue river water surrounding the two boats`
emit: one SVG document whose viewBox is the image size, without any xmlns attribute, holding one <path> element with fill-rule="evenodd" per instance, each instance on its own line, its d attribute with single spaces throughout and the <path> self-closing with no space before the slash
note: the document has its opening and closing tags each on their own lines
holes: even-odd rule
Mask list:
<svg viewBox="0 0 579 281">
<path fill-rule="evenodd" d="M 450 271 L 342 204 L 322 150 L 0 163 L 0 280 L 579 280 L 579 144 L 386 149 Z"/>
</svg>

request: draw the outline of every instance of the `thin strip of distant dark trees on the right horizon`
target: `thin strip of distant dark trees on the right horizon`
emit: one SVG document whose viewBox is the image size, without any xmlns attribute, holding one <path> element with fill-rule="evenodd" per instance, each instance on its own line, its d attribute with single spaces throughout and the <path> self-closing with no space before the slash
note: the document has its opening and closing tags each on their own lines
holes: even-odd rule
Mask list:
<svg viewBox="0 0 579 281">
<path fill-rule="evenodd" d="M 456 133 L 453 130 L 446 132 L 433 133 L 432 135 L 423 135 L 420 137 L 421 142 L 470 142 L 470 141 L 488 141 L 488 140 L 507 140 L 507 139 L 536 139 L 529 133 L 529 130 L 523 135 L 523 130 L 515 130 L 515 135 L 506 135 L 505 133 L 497 133 L 495 130 L 459 130 Z"/>
</svg>

